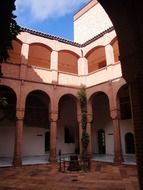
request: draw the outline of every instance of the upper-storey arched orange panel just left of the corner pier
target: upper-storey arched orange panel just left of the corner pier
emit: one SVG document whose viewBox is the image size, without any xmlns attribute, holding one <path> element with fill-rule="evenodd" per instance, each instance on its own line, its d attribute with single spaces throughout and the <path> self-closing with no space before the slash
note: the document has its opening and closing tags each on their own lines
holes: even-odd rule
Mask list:
<svg viewBox="0 0 143 190">
<path fill-rule="evenodd" d="M 79 55 L 69 50 L 61 50 L 58 54 L 58 70 L 78 74 Z"/>
</svg>

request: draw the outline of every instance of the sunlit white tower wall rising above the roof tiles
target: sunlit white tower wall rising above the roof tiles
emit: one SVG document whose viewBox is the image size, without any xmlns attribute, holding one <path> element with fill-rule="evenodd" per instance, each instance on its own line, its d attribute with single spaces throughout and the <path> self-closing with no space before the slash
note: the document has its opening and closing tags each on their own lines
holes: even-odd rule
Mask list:
<svg viewBox="0 0 143 190">
<path fill-rule="evenodd" d="M 84 43 L 111 26 L 107 13 L 97 3 L 74 21 L 74 41 Z"/>
</svg>

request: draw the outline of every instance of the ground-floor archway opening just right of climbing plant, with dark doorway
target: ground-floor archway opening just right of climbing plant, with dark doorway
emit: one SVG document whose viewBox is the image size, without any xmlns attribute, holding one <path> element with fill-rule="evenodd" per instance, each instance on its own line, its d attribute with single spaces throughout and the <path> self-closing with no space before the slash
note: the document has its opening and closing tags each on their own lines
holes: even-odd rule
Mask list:
<svg viewBox="0 0 143 190">
<path fill-rule="evenodd" d="M 92 95 L 91 102 L 93 154 L 95 156 L 99 154 L 113 156 L 114 140 L 108 97 L 104 92 L 97 92 Z"/>
</svg>

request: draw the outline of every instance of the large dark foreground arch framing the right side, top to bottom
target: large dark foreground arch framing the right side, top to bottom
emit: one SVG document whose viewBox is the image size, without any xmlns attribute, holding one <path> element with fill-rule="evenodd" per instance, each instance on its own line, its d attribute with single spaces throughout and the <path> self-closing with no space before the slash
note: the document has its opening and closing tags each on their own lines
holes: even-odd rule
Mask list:
<svg viewBox="0 0 143 190">
<path fill-rule="evenodd" d="M 140 189 L 143 189 L 143 17 L 142 2 L 99 0 L 117 33 L 123 77 L 130 86 L 133 123 L 136 139 L 136 157 Z"/>
</svg>

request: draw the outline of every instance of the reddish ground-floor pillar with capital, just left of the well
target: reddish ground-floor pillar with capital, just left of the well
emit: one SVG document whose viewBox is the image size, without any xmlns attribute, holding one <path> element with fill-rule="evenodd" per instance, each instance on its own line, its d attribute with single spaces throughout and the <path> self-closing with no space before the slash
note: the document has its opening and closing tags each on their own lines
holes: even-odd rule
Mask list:
<svg viewBox="0 0 143 190">
<path fill-rule="evenodd" d="M 58 114 L 51 114 L 50 125 L 50 161 L 57 161 L 57 119 Z"/>
</svg>

